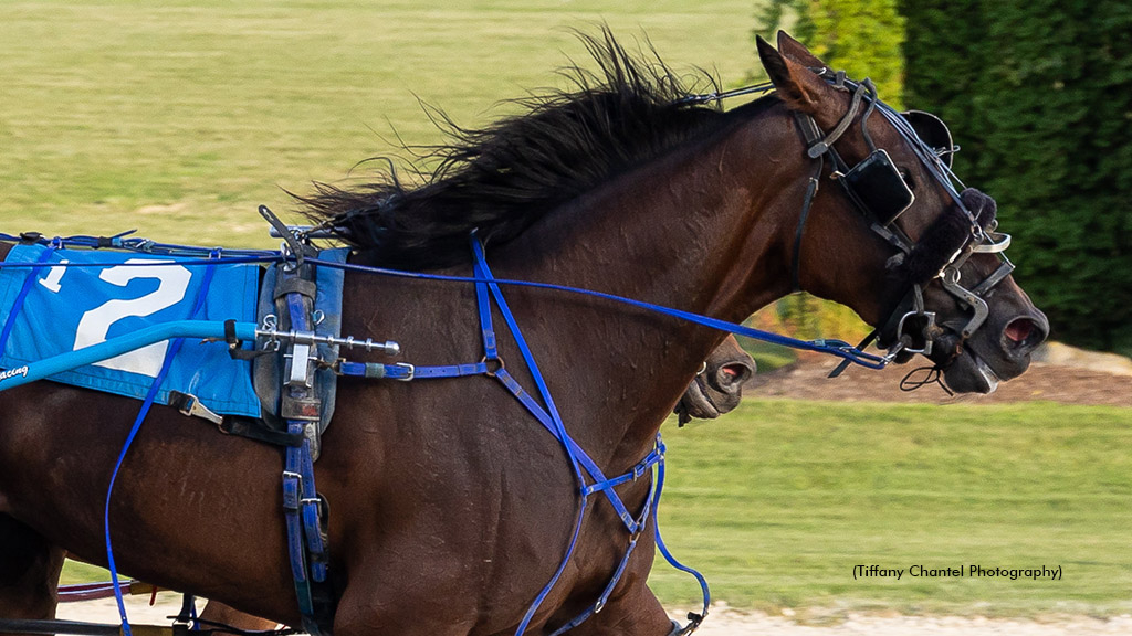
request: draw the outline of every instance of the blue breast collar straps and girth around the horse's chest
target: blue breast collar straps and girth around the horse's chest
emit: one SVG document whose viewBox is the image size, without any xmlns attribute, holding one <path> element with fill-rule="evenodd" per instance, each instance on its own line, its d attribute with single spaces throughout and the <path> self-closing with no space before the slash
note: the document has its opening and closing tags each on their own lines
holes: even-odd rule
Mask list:
<svg viewBox="0 0 1132 636">
<path fill-rule="evenodd" d="M 492 276 L 491 270 L 488 267 L 483 247 L 474 234 L 471 238 L 470 247 L 474 257 L 473 275 L 475 280 L 477 310 L 480 319 L 480 333 L 483 342 L 483 358 L 479 362 L 422 367 L 403 362 L 394 364 L 352 362 L 344 358 L 338 358 L 331 362 L 328 367 L 336 373 L 343 376 L 371 379 L 384 378 L 403 381 L 456 378 L 465 376 L 487 376 L 495 378 L 561 446 L 574 475 L 580 500 L 578 509 L 575 515 L 574 528 L 571 534 L 569 545 L 567 547 L 558 568 L 535 599 L 531 602 L 515 631 L 516 635 L 522 635 L 526 631 L 531 621 L 534 619 L 538 609 L 554 590 L 563 571 L 566 569 L 567 564 L 569 564 L 573 558 L 574 551 L 581 538 L 582 523 L 585 518 L 585 513 L 590 507 L 591 497 L 595 495 L 604 497 L 609 505 L 612 506 L 618 518 L 621 521 L 625 531 L 628 533 L 629 539 L 620 561 L 615 568 L 609 582 L 598 595 L 597 600 L 594 600 L 594 602 L 581 614 L 556 629 L 552 633 L 552 636 L 558 636 L 574 627 L 577 627 L 604 608 L 610 594 L 612 594 L 617 584 L 620 582 L 621 575 L 628 566 L 629 558 L 633 556 L 642 533 L 649 527 L 650 521 L 654 531 L 657 545 L 661 550 L 664 558 L 672 564 L 674 567 L 693 574 L 700 582 L 701 590 L 704 595 L 703 612 L 700 614 L 689 614 L 693 622 L 689 624 L 688 627 L 680 628 L 679 630 L 681 634 L 691 634 L 707 613 L 707 607 L 710 605 L 710 592 L 703 576 L 694 569 L 679 564 L 668 551 L 668 548 L 664 545 L 663 540 L 660 536 L 657 522 L 657 509 L 659 508 L 660 496 L 663 489 L 663 463 L 666 449 L 660 433 L 657 433 L 653 449 L 644 458 L 637 462 L 624 474 L 607 478 L 598 466 L 597 462 L 594 462 L 567 432 L 566 426 L 563 422 L 557 406 L 555 405 L 554 398 L 550 395 L 550 390 L 547 387 L 534 355 L 531 352 L 526 340 L 523 337 L 518 324 L 507 306 L 506 300 L 504 299 L 497 280 Z M 299 270 L 301 267 L 295 267 L 294 269 Z M 292 295 L 295 292 L 291 292 L 288 294 L 286 303 L 286 308 L 291 316 L 291 327 L 294 327 L 297 324 L 294 317 L 297 315 L 302 316 L 302 312 L 306 309 L 295 301 Z M 538 396 L 541 398 L 541 404 L 532 393 L 525 390 L 522 385 L 515 380 L 515 378 L 507 371 L 505 361 L 499 356 L 496 329 L 491 318 L 492 302 L 503 315 L 504 321 L 518 346 L 523 362 L 533 378 Z M 286 327 L 286 325 L 284 325 L 284 327 Z M 265 344 L 268 349 L 277 347 L 281 343 L 286 343 L 284 346 L 292 352 L 288 354 L 292 358 L 290 367 L 291 371 L 289 373 L 290 376 L 293 376 L 297 372 L 295 364 L 299 364 L 301 356 L 306 355 L 301 353 L 300 349 L 298 349 L 299 346 L 302 346 L 302 344 L 297 345 L 295 343 L 314 343 L 319 338 L 319 336 L 312 330 L 303 329 L 301 327 L 286 334 L 265 329 L 258 335 L 265 340 Z M 232 340 L 231 343 L 233 350 L 239 349 L 239 340 Z M 309 360 L 309 355 L 308 362 L 311 364 L 314 363 L 314 361 Z M 323 361 L 323 364 L 326 364 L 326 361 Z M 307 402 L 303 396 L 307 395 L 306 392 L 309 392 L 311 388 L 310 385 L 306 381 L 292 385 L 292 383 L 289 381 L 288 388 L 292 390 L 292 394 L 294 394 L 295 392 L 292 387 L 299 389 L 298 402 L 300 404 L 306 404 Z M 288 393 L 284 393 L 284 404 L 286 404 L 286 399 Z M 284 413 L 286 413 L 285 406 Z M 298 432 L 301 430 L 301 427 L 305 426 L 301 419 L 289 419 L 288 421 L 289 432 Z M 306 426 L 309 427 L 310 424 L 307 423 Z M 655 478 L 653 479 L 652 475 L 654 473 L 654 469 Z M 314 473 L 311 470 L 309 442 L 307 440 L 303 440 L 303 444 L 300 447 L 288 448 L 288 469 L 283 475 L 284 510 L 288 519 L 288 536 L 289 544 L 291 545 L 290 552 L 292 570 L 295 579 L 295 591 L 300 600 L 300 610 L 303 613 L 303 627 L 311 634 L 317 635 L 318 633 L 328 629 L 328 625 L 326 625 L 325 621 L 326 619 L 333 617 L 333 596 L 327 596 L 325 594 L 327 591 L 325 567 L 326 536 L 323 525 L 323 519 L 325 518 L 325 514 L 323 514 L 325 510 L 325 501 L 321 500 L 321 498 L 318 497 L 314 490 Z M 621 500 L 616 489 L 627 483 L 635 483 L 641 479 L 650 479 L 652 482 L 651 491 L 645 497 L 641 509 L 636 513 L 632 513 Z M 301 525 L 298 519 L 300 513 L 302 521 Z M 303 538 L 306 539 L 306 542 L 303 542 Z M 300 548 L 299 545 L 302 547 Z M 307 582 L 308 578 L 309 583 Z M 323 591 L 324 594 L 318 594 L 317 592 L 319 591 Z"/>
</svg>

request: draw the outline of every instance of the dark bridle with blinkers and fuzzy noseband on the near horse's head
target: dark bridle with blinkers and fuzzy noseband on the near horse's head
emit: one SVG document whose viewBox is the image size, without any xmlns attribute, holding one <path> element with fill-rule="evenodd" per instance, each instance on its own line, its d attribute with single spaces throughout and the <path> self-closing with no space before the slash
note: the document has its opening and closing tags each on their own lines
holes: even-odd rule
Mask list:
<svg viewBox="0 0 1132 636">
<path fill-rule="evenodd" d="M 969 225 L 969 233 L 960 239 L 960 243 L 954 247 L 954 251 L 946 258 L 945 263 L 934 275 L 927 280 L 910 281 L 908 290 L 902 294 L 901 300 L 889 311 L 887 318 L 882 320 L 876 329 L 869 334 L 859 347 L 864 347 L 873 340 L 884 338 L 884 334 L 892 333 L 891 344 L 887 345 L 887 360 L 893 360 L 900 353 L 914 354 L 923 353 L 929 355 L 933 343 L 938 340 L 945 329 L 936 325 L 934 311 L 928 311 L 924 304 L 924 287 L 935 278 L 941 281 L 942 287 L 953 295 L 961 304 L 971 311 L 967 323 L 958 329 L 960 344 L 966 342 L 985 321 L 989 315 L 986 295 L 1013 272 L 1014 265 L 1005 256 L 1005 250 L 1010 246 L 1010 235 L 996 232 L 997 222 L 986 221 L 986 227 L 980 220 L 968 209 L 961 195 L 955 188 L 955 183 L 963 187 L 962 182 L 951 171 L 950 158 L 958 147 L 951 144 L 951 135 L 946 126 L 935 115 L 920 111 L 909 111 L 909 113 L 898 113 L 887 104 L 881 102 L 876 96 L 876 88 L 869 79 L 860 83 L 852 81 L 846 77 L 843 71 L 831 71 L 827 68 L 811 69 L 818 77 L 829 81 L 834 89 L 851 92 L 852 98 L 849 109 L 830 132 L 824 132 L 813 117 L 795 111 L 795 120 L 801 131 L 806 144 L 806 155 L 816 160 L 816 170 L 809 178 L 806 196 L 803 203 L 801 214 L 798 218 L 797 231 L 795 232 L 794 256 L 791 265 L 791 280 L 795 291 L 799 290 L 799 267 L 801 239 L 805 233 L 806 220 L 809 215 L 809 207 L 814 195 L 817 192 L 822 173 L 824 172 L 824 158 L 829 157 L 832 170 L 829 178 L 841 184 L 842 190 L 852 201 L 854 207 L 869 221 L 873 232 L 883 238 L 887 243 L 899 251 L 892 259 L 890 266 L 899 266 L 907 259 L 919 244 L 897 225 L 897 218 L 912 206 L 916 200 L 915 195 L 904 181 L 899 169 L 892 163 L 889 153 L 883 148 L 877 148 L 868 132 L 867 123 L 873 112 L 880 112 L 900 132 L 901 137 L 909 143 L 912 151 L 934 177 L 935 181 L 944 187 L 954 201 L 954 207 L 945 210 L 944 214 L 960 214 Z M 869 154 L 861 162 L 849 166 L 838 151 L 834 148 L 837 140 L 849 129 L 857 114 L 865 105 L 865 112 L 860 117 L 861 136 L 868 146 Z M 912 121 L 919 121 L 923 126 L 934 126 L 936 137 L 945 139 L 945 144 L 940 147 L 928 146 L 921 139 L 920 130 L 914 126 Z M 927 135 L 925 135 L 927 136 Z M 926 234 L 925 234 L 926 235 Z M 920 239 L 923 241 L 923 237 Z M 950 248 L 949 248 L 950 249 Z M 961 284 L 960 269 L 974 253 L 996 253 L 1002 263 L 986 278 L 968 289 Z M 944 362 L 950 363 L 951 359 Z M 846 368 L 839 366 L 831 376 L 835 376 Z"/>
</svg>

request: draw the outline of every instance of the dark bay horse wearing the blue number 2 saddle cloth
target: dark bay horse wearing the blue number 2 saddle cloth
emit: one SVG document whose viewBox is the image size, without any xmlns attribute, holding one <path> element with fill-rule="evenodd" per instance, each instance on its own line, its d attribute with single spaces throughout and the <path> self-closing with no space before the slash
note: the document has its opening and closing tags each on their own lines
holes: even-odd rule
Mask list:
<svg viewBox="0 0 1132 636">
<path fill-rule="evenodd" d="M 952 389 L 986 393 L 1022 373 L 1045 318 L 1012 278 L 995 275 L 997 255 L 968 249 L 983 227 L 989 232 L 993 200 L 972 190 L 953 196 L 893 120 L 869 119 L 860 92 L 812 70 L 824 65 L 792 40 L 758 45 L 775 94 L 724 112 L 684 100 L 688 91 L 659 62 L 592 40 L 597 76 L 582 72 L 575 91 L 533 98 L 526 113 L 486 130 L 457 131 L 424 186 L 391 178 L 355 191 L 324 188 L 311 214 L 340 229 L 355 263 L 466 275 L 475 229 L 499 277 L 732 321 L 797 280 L 877 326 L 885 346 L 909 335 L 889 318 L 921 285 L 918 310 L 906 315 L 935 313 L 921 330 Z M 831 181 L 840 171 L 826 163 L 817 172 L 807 153 L 817 144 L 805 141 L 799 122 L 813 123 L 849 165 L 874 146 L 886 151 L 915 203 L 883 224 L 863 214 Z M 812 192 L 812 177 L 825 187 Z M 875 194 L 863 188 L 858 198 Z M 915 249 L 897 249 L 882 231 Z M 955 281 L 936 276 L 949 264 L 952 278 L 981 292 L 978 328 L 969 327 L 977 299 L 957 300 L 944 287 Z M 600 299 L 504 293 L 566 427 L 607 474 L 652 449 L 723 338 Z M 479 360 L 475 315 L 470 285 L 346 276 L 343 333 L 395 337 L 420 364 Z M 514 338 L 499 335 L 508 370 L 531 386 Z M 0 616 L 52 614 L 63 549 L 104 562 L 102 502 L 136 410 L 51 383 L 0 392 Z M 119 567 L 298 625 L 282 466 L 276 448 L 154 407 L 111 502 Z M 558 442 L 486 377 L 343 378 L 315 470 L 331 507 L 338 636 L 514 633 L 555 573 L 580 509 Z M 620 487 L 629 509 L 643 506 L 649 481 Z M 531 631 L 551 633 L 592 604 L 627 541 L 607 502 L 590 506 Z M 604 610 L 576 633 L 670 633 L 645 585 L 653 545 L 644 533 Z"/>
</svg>

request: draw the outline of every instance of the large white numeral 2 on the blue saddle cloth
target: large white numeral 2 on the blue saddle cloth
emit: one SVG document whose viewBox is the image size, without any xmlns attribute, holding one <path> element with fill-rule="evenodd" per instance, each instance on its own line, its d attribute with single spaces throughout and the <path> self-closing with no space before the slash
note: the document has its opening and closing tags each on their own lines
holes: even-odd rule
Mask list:
<svg viewBox="0 0 1132 636">
<path fill-rule="evenodd" d="M 192 274 L 185 267 L 157 265 L 158 263 L 172 263 L 169 260 L 131 258 L 126 263 L 152 263 L 154 265 L 109 267 L 98 274 L 98 278 L 120 287 L 125 287 L 135 278 L 157 278 L 157 289 L 135 299 L 108 300 L 84 313 L 78 321 L 78 330 L 75 333 L 74 349 L 76 351 L 106 342 L 110 326 L 122 318 L 145 318 L 185 299 L 185 292 L 189 289 L 189 281 L 192 278 Z M 169 341 L 158 342 L 94 364 L 156 378 L 157 373 L 161 372 L 161 363 L 164 361 L 168 350 Z"/>
</svg>

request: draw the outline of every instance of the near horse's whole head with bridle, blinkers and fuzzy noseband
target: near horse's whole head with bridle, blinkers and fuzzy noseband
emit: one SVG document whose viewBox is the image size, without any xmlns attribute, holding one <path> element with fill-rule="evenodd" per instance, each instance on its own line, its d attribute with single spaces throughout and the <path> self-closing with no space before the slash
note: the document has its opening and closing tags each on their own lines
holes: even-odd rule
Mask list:
<svg viewBox="0 0 1132 636">
<path fill-rule="evenodd" d="M 856 310 L 897 362 L 927 356 L 955 392 L 1022 373 L 1048 321 L 1010 275 L 994 199 L 951 172 L 943 123 L 897 113 L 786 34 L 758 53 L 815 166 L 787 248 L 796 284 Z"/>
</svg>

